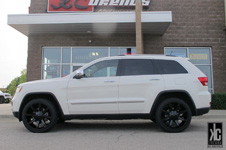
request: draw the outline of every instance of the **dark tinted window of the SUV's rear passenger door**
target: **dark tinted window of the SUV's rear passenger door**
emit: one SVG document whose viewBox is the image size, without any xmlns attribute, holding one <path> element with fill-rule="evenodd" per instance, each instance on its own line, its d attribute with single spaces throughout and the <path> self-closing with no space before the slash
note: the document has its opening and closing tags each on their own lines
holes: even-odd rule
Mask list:
<svg viewBox="0 0 226 150">
<path fill-rule="evenodd" d="M 122 75 L 124 76 L 149 75 L 153 73 L 153 64 L 149 59 L 124 60 L 124 69 L 122 70 Z"/>
</svg>

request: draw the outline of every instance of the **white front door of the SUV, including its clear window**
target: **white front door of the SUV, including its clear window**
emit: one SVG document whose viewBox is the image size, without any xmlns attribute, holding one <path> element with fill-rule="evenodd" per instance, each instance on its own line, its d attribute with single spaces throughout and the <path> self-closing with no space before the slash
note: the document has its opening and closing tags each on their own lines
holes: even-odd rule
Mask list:
<svg viewBox="0 0 226 150">
<path fill-rule="evenodd" d="M 118 113 L 118 60 L 104 60 L 84 69 L 85 77 L 68 84 L 71 114 Z"/>
</svg>

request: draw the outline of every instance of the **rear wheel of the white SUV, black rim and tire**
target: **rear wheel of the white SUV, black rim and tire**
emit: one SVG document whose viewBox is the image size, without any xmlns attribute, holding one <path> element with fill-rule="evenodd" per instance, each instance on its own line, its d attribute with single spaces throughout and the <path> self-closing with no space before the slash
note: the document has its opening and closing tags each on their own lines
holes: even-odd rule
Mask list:
<svg viewBox="0 0 226 150">
<path fill-rule="evenodd" d="M 191 117 L 187 103 L 178 98 L 169 98 L 158 106 L 155 119 L 164 131 L 177 133 L 190 125 Z"/>
</svg>

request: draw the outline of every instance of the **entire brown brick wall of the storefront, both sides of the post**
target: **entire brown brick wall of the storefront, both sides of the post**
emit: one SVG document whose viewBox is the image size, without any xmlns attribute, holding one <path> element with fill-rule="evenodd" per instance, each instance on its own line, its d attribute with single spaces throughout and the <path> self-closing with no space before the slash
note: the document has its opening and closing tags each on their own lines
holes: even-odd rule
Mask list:
<svg viewBox="0 0 226 150">
<path fill-rule="evenodd" d="M 47 0 L 31 0 L 31 13 L 46 13 Z M 124 11 L 97 8 L 95 11 Z M 131 11 L 134 9 L 126 9 Z M 211 47 L 215 92 L 225 92 L 226 32 L 224 0 L 152 0 L 148 11 L 172 11 L 173 22 L 163 36 L 144 33 L 144 52 L 163 54 L 164 47 Z M 88 39 L 95 42 L 91 45 Z M 28 80 L 41 78 L 43 46 L 135 46 L 135 35 L 29 36 Z"/>
</svg>

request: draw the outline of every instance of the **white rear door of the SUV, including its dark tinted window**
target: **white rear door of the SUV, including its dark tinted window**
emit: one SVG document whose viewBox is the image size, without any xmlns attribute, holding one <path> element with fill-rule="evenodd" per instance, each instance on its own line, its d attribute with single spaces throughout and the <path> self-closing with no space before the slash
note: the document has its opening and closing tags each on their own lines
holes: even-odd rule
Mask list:
<svg viewBox="0 0 226 150">
<path fill-rule="evenodd" d="M 149 113 L 154 98 L 163 88 L 164 81 L 152 60 L 124 59 L 119 80 L 119 112 Z"/>
</svg>

